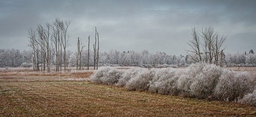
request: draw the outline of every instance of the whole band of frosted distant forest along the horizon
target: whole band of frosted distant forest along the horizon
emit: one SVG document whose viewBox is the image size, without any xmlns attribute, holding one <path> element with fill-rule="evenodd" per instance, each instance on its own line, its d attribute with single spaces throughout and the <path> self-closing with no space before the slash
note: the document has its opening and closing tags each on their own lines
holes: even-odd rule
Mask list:
<svg viewBox="0 0 256 117">
<path fill-rule="evenodd" d="M 82 67 L 87 66 L 88 50 L 81 53 Z M 67 64 L 68 67 L 75 67 L 77 62 L 77 52 L 67 51 Z M 52 67 L 56 65 L 54 53 L 51 53 L 50 64 Z M 62 53 L 64 56 L 64 53 Z M 147 50 L 142 52 L 136 51 L 116 51 L 110 50 L 108 52 L 99 53 L 99 65 L 119 65 L 119 66 L 145 66 L 145 64 L 174 64 L 177 66 L 188 66 L 194 61 L 191 60 L 189 55 L 168 55 L 164 52 L 149 53 Z M 224 53 L 224 65 L 227 66 L 256 66 L 256 54 L 253 50 L 248 53 Z M 32 51 L 20 51 L 18 49 L 0 49 L 0 67 L 32 67 L 33 66 L 33 53 Z M 42 67 L 42 59 L 39 56 L 39 64 Z M 89 66 L 94 65 L 94 51 L 90 51 Z M 64 59 L 62 57 L 62 59 Z M 79 59 L 78 59 L 78 62 Z M 64 66 L 64 60 L 62 60 Z"/>
</svg>

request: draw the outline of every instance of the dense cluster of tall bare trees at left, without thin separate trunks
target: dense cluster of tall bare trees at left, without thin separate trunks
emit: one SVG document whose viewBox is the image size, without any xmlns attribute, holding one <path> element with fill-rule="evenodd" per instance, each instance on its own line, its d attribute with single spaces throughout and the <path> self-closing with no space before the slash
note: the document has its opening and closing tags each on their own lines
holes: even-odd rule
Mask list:
<svg viewBox="0 0 256 117">
<path fill-rule="evenodd" d="M 68 27 L 70 23 L 69 20 L 63 21 L 56 18 L 52 23 L 46 22 L 44 27 L 38 24 L 37 29 L 32 27 L 28 29 L 28 46 L 33 54 L 34 71 L 40 70 L 39 59 L 41 58 L 43 64 L 41 70 L 45 70 L 47 67 L 47 72 L 50 72 L 50 60 L 53 58 L 51 53 L 54 53 L 55 56 L 56 71 L 62 70 L 62 57 L 64 58 L 64 71 L 66 71 L 66 48 L 69 46 Z M 62 50 L 64 56 L 62 56 Z"/>
</svg>

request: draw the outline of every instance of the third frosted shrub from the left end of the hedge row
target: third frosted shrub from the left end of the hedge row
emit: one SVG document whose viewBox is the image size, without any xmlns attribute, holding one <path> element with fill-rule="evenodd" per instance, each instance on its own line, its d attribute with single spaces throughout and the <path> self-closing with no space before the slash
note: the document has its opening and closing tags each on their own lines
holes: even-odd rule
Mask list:
<svg viewBox="0 0 256 117">
<path fill-rule="evenodd" d="M 155 75 L 155 69 L 143 70 L 136 77 L 131 78 L 126 83 L 126 88 L 129 91 L 145 91 L 149 88 L 149 82 Z"/>
</svg>

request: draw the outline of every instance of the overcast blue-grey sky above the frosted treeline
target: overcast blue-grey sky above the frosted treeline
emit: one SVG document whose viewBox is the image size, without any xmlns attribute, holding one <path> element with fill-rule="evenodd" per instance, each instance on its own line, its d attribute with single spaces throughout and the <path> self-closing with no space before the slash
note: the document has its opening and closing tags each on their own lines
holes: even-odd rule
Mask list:
<svg viewBox="0 0 256 117">
<path fill-rule="evenodd" d="M 185 55 L 191 27 L 209 25 L 228 35 L 226 52 L 256 51 L 256 0 L 0 0 L 0 48 L 28 50 L 27 29 L 56 17 L 71 20 L 71 51 L 96 26 L 100 51 Z"/>
</svg>

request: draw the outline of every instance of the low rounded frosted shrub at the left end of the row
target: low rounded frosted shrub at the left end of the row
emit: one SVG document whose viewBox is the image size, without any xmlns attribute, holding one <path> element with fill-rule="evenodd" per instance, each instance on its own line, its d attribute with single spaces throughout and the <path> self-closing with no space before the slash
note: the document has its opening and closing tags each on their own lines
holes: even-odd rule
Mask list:
<svg viewBox="0 0 256 117">
<path fill-rule="evenodd" d="M 90 80 L 98 84 L 115 84 L 121 78 L 122 73 L 122 70 L 117 70 L 110 66 L 101 67 L 94 72 Z"/>
</svg>

